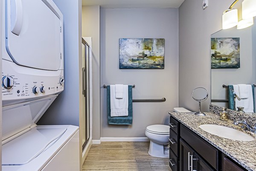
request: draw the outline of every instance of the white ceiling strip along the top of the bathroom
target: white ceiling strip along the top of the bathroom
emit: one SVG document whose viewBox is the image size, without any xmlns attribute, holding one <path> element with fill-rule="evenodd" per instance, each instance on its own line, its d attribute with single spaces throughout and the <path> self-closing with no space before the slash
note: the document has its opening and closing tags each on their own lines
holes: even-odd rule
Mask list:
<svg viewBox="0 0 256 171">
<path fill-rule="evenodd" d="M 82 0 L 83 6 L 102 8 L 179 8 L 184 0 Z"/>
</svg>

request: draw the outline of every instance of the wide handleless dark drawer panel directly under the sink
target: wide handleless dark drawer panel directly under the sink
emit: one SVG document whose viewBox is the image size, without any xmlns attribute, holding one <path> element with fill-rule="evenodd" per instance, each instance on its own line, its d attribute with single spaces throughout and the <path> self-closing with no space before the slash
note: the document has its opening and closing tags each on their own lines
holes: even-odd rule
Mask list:
<svg viewBox="0 0 256 171">
<path fill-rule="evenodd" d="M 201 155 L 213 168 L 218 170 L 218 150 L 191 130 L 180 124 L 180 137 Z"/>
</svg>

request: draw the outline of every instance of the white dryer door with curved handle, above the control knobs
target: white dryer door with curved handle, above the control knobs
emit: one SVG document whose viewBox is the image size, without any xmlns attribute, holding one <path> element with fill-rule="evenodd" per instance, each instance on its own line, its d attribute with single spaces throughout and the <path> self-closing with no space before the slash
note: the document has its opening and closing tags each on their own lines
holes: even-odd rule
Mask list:
<svg viewBox="0 0 256 171">
<path fill-rule="evenodd" d="M 18 65 L 42 70 L 61 67 L 62 14 L 57 17 L 57 6 L 48 1 L 6 0 L 6 50 Z"/>
</svg>

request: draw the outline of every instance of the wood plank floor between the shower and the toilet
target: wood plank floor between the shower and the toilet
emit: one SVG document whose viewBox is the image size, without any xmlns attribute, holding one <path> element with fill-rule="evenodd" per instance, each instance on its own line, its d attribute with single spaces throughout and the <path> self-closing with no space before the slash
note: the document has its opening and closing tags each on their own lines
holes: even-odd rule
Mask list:
<svg viewBox="0 0 256 171">
<path fill-rule="evenodd" d="M 102 142 L 93 144 L 83 171 L 172 171 L 168 158 L 148 154 L 149 142 Z"/>
</svg>

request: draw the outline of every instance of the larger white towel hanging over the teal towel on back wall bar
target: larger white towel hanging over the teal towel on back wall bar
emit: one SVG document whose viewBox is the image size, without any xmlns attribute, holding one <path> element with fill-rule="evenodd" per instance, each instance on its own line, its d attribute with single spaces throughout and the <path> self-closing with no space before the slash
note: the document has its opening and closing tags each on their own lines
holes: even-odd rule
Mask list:
<svg viewBox="0 0 256 171">
<path fill-rule="evenodd" d="M 115 98 L 115 85 L 110 85 L 110 116 L 128 116 L 128 85 L 123 85 L 123 99 Z"/>
</svg>

